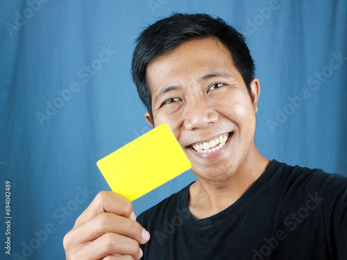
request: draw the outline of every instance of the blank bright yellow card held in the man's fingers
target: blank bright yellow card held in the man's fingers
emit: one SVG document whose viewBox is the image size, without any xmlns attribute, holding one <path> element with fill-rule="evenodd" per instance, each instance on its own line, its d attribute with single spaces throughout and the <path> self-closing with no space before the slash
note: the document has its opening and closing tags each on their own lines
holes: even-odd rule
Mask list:
<svg viewBox="0 0 347 260">
<path fill-rule="evenodd" d="M 112 191 L 133 201 L 192 167 L 166 123 L 97 163 Z"/>
</svg>

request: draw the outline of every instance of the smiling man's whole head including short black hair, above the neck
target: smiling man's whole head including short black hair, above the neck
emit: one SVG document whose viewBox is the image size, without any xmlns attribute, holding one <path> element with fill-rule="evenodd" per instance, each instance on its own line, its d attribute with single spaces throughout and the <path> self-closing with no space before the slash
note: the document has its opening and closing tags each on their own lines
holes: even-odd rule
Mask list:
<svg viewBox="0 0 347 260">
<path fill-rule="evenodd" d="M 133 76 L 146 119 L 169 125 L 193 173 L 223 182 L 254 167 L 260 84 L 243 37 L 208 15 L 174 15 L 138 41 Z"/>
</svg>

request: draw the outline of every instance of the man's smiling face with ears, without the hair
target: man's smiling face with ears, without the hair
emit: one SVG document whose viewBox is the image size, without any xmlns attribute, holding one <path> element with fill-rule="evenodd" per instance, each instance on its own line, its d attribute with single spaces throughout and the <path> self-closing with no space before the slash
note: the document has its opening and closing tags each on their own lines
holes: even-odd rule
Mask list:
<svg viewBox="0 0 347 260">
<path fill-rule="evenodd" d="M 153 60 L 147 80 L 153 123 L 169 125 L 197 177 L 223 181 L 247 170 L 260 87 L 253 79 L 252 102 L 226 46 L 214 37 L 189 40 Z"/>
</svg>

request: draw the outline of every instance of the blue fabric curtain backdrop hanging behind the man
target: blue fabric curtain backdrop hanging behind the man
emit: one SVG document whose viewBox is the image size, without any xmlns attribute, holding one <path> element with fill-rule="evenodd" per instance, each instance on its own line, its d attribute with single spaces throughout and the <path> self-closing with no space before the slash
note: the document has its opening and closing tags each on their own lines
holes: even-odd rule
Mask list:
<svg viewBox="0 0 347 260">
<path fill-rule="evenodd" d="M 264 156 L 347 173 L 346 0 L 0 3 L 1 259 L 65 258 L 62 237 L 109 189 L 96 161 L 151 129 L 130 59 L 139 32 L 174 11 L 218 15 L 246 35 Z M 193 180 L 184 173 L 135 200 L 136 214 Z"/>
</svg>

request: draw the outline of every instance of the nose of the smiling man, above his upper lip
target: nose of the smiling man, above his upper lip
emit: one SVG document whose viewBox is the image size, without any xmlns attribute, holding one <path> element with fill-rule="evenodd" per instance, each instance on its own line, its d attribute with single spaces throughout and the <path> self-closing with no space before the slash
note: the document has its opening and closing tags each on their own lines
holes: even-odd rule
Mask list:
<svg viewBox="0 0 347 260">
<path fill-rule="evenodd" d="M 218 112 L 205 101 L 186 103 L 184 113 L 185 130 L 203 129 L 218 121 Z"/>
</svg>

